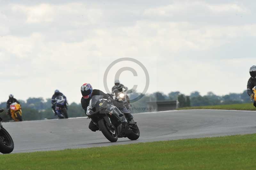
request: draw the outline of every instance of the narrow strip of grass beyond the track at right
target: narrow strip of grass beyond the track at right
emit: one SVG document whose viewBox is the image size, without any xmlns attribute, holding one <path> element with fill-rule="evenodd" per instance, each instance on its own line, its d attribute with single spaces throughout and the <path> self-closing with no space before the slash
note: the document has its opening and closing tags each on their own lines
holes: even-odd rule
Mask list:
<svg viewBox="0 0 256 170">
<path fill-rule="evenodd" d="M 227 105 L 214 105 L 214 106 L 196 106 L 196 107 L 183 107 L 178 110 L 184 109 L 223 109 L 223 110 L 251 110 L 256 111 L 256 108 L 252 103 L 244 103 L 244 104 L 227 104 Z"/>
</svg>

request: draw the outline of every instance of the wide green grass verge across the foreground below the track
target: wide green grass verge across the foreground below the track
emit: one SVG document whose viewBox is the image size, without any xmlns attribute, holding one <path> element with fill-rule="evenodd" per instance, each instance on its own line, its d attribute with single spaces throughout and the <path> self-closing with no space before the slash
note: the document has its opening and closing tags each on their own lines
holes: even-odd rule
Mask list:
<svg viewBox="0 0 256 170">
<path fill-rule="evenodd" d="M 256 168 L 256 134 L 0 155 L 1 169 Z"/>
</svg>

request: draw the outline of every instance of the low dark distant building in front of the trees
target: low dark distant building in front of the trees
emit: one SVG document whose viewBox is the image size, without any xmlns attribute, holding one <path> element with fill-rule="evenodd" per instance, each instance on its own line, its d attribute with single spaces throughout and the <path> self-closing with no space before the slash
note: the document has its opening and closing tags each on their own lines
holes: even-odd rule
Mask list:
<svg viewBox="0 0 256 170">
<path fill-rule="evenodd" d="M 173 100 L 151 101 L 147 102 L 147 104 L 149 108 L 156 108 L 155 111 L 175 110 L 179 106 L 179 102 Z"/>
</svg>

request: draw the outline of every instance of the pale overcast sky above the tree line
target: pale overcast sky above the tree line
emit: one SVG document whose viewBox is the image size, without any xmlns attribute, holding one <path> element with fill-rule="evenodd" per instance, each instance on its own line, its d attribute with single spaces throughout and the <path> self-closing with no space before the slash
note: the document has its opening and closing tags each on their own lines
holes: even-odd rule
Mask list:
<svg viewBox="0 0 256 170">
<path fill-rule="evenodd" d="M 148 93 L 240 93 L 256 65 L 256 1 L 3 1 L 0 0 L 0 101 L 52 96 L 80 102 L 80 86 L 106 92 L 103 75 L 118 58 L 147 68 Z M 145 87 L 132 62 L 120 81 Z"/>
</svg>

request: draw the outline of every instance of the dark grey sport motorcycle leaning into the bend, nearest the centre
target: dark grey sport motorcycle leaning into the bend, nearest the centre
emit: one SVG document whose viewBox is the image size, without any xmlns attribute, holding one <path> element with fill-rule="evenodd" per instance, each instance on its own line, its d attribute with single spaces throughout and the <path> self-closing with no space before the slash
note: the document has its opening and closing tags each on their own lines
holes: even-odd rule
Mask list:
<svg viewBox="0 0 256 170">
<path fill-rule="evenodd" d="M 123 112 L 130 112 L 125 106 L 123 109 Z M 107 99 L 103 99 L 103 96 L 95 95 L 91 98 L 86 115 L 110 142 L 116 142 L 118 137 L 128 137 L 130 140 L 140 137 L 137 124 L 129 125 L 124 114 Z"/>
</svg>

